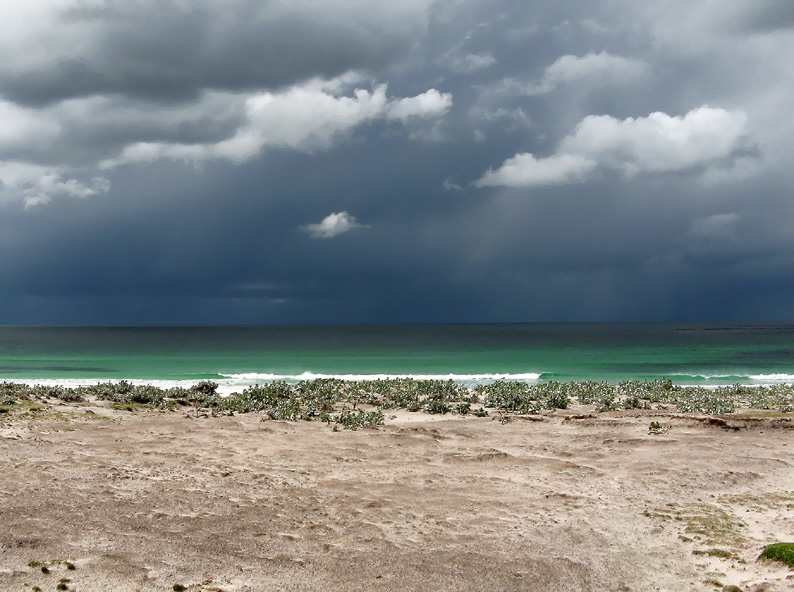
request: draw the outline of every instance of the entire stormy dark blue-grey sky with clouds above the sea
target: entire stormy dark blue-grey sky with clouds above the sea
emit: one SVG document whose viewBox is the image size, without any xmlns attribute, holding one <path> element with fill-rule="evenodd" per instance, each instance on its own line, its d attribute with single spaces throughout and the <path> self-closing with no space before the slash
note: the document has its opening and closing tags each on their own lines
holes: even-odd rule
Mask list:
<svg viewBox="0 0 794 592">
<path fill-rule="evenodd" d="M 0 324 L 794 320 L 789 0 L 0 3 Z"/>
</svg>

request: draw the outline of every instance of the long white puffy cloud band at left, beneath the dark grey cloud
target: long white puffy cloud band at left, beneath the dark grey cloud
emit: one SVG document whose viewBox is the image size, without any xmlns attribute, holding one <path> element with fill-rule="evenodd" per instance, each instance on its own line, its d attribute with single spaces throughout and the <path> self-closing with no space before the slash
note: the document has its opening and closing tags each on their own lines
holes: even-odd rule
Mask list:
<svg viewBox="0 0 794 592">
<path fill-rule="evenodd" d="M 452 104 L 450 94 L 435 89 L 391 98 L 385 84 L 357 88 L 365 82 L 347 73 L 280 92 L 207 90 L 195 101 L 164 104 L 91 96 L 32 108 L 0 99 L 3 201 L 30 207 L 56 195 L 100 195 L 107 192 L 103 183 L 85 178 L 104 179 L 99 171 L 122 164 L 242 163 L 268 148 L 328 149 L 364 123 L 415 122 L 416 127 Z"/>
</svg>

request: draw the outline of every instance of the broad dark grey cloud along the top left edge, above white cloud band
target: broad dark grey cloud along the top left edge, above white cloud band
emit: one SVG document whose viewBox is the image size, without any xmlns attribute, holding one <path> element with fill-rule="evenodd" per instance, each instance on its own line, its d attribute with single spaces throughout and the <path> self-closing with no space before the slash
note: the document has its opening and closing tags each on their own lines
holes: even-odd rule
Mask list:
<svg viewBox="0 0 794 592">
<path fill-rule="evenodd" d="M 277 89 L 377 70 L 422 33 L 424 8 L 418 0 L 75 3 L 31 15 L 51 19 L 48 43 L 62 44 L 50 59 L 9 63 L 0 92 L 29 105 L 108 94 L 183 102 L 206 89 Z"/>
</svg>

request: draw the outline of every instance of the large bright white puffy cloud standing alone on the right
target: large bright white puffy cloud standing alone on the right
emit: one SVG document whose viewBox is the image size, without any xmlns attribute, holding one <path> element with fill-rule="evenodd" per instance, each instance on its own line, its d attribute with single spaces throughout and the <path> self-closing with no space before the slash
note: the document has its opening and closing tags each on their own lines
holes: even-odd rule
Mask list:
<svg viewBox="0 0 794 592">
<path fill-rule="evenodd" d="M 488 170 L 478 187 L 529 187 L 584 181 L 596 167 L 626 176 L 640 172 L 675 172 L 719 165 L 744 146 L 747 115 L 708 106 L 683 116 L 651 113 L 616 119 L 585 117 L 560 143 L 556 154 L 536 158 L 517 154 Z"/>
</svg>

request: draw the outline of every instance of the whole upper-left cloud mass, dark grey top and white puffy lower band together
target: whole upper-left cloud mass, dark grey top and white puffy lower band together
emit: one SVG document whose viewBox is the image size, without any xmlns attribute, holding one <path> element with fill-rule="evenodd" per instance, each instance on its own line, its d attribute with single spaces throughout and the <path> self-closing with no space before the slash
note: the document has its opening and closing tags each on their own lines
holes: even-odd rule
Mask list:
<svg viewBox="0 0 794 592">
<path fill-rule="evenodd" d="M 430 2 L 0 3 L 0 199 L 85 198 L 125 163 L 240 163 L 441 115 L 449 94 L 388 97 L 354 73 L 408 51 Z"/>
</svg>

